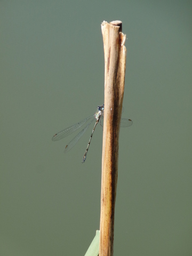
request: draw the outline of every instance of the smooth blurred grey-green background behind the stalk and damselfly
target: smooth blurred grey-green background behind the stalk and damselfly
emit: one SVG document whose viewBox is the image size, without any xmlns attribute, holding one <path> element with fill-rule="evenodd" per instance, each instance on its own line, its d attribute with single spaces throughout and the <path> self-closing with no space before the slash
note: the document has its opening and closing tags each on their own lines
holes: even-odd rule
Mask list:
<svg viewBox="0 0 192 256">
<path fill-rule="evenodd" d="M 127 40 L 114 255 L 192 255 L 191 1 L 1 1 L 0 255 L 84 255 L 99 229 L 101 22 Z M 93 126 L 93 125 L 92 125 Z"/>
</svg>

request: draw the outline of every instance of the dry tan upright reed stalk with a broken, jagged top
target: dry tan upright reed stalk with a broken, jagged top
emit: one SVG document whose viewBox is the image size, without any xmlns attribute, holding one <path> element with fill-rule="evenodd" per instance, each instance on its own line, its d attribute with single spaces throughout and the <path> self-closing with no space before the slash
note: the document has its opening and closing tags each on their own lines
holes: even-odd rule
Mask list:
<svg viewBox="0 0 192 256">
<path fill-rule="evenodd" d="M 122 22 L 101 24 L 105 54 L 105 115 L 103 123 L 99 256 L 113 255 L 114 215 L 118 174 L 118 139 L 122 114 L 126 35 Z"/>
</svg>

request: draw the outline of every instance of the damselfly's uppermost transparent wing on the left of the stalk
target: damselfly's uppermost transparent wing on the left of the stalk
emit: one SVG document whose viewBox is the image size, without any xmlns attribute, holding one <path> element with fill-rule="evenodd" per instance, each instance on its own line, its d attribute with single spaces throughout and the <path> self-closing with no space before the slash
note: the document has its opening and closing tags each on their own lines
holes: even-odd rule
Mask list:
<svg viewBox="0 0 192 256">
<path fill-rule="evenodd" d="M 85 119 L 83 119 L 82 121 L 78 122 L 77 124 L 71 125 L 68 128 L 66 128 L 65 130 L 62 130 L 61 132 L 58 132 L 58 133 L 54 134 L 53 138 L 52 138 L 52 141 L 61 140 L 61 139 L 65 138 L 65 137 L 67 137 L 68 135 L 70 135 L 71 133 L 73 133 L 77 129 L 79 129 L 79 127 L 84 125 L 91 118 L 93 118 L 93 120 L 94 120 L 94 116 L 93 115 L 89 116 L 89 117 L 86 117 Z"/>
</svg>

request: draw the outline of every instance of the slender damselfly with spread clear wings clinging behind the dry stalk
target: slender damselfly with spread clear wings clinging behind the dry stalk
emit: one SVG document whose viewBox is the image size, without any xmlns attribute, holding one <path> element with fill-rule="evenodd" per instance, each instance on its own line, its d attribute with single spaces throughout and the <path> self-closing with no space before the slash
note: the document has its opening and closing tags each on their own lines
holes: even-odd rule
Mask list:
<svg viewBox="0 0 192 256">
<path fill-rule="evenodd" d="M 83 134 L 86 132 L 86 130 L 88 129 L 88 127 L 90 126 L 90 124 L 95 121 L 92 133 L 91 133 L 91 137 L 89 139 L 87 148 L 85 150 L 85 154 L 83 155 L 83 161 L 82 163 L 85 162 L 86 160 L 86 155 L 87 155 L 87 151 L 89 150 L 89 146 L 91 143 L 91 139 L 93 136 L 93 132 L 95 130 L 96 125 L 99 123 L 100 118 L 103 118 L 104 116 L 104 104 L 101 106 L 97 107 L 97 111 L 95 112 L 94 115 L 86 117 L 85 119 L 83 119 L 82 121 L 78 122 L 77 124 L 71 125 L 68 128 L 66 128 L 65 130 L 62 130 L 61 132 L 58 132 L 56 134 L 53 135 L 52 141 L 57 141 L 57 140 L 61 140 L 65 137 L 67 137 L 68 135 L 70 135 L 71 133 L 75 132 L 77 129 L 79 129 L 81 126 L 83 126 L 85 123 L 87 123 L 89 121 L 89 123 L 84 127 L 83 130 L 81 130 L 81 132 L 79 132 L 75 138 L 73 140 L 71 140 L 68 145 L 65 147 L 64 149 L 64 153 L 67 153 L 71 148 L 73 148 L 76 143 L 78 142 L 78 140 L 83 136 Z M 131 119 L 127 119 L 127 118 L 122 118 L 121 119 L 121 127 L 127 127 L 127 126 L 131 126 L 133 124 Z"/>
</svg>

